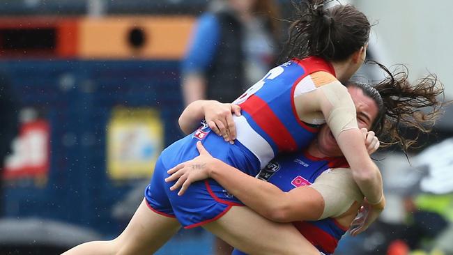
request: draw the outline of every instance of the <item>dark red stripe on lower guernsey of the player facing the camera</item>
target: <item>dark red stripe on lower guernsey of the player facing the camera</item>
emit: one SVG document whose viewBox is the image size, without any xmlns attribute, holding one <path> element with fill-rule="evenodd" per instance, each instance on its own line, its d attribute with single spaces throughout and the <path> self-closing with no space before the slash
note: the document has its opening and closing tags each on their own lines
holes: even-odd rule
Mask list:
<svg viewBox="0 0 453 255">
<path fill-rule="evenodd" d="M 332 235 L 307 222 L 293 222 L 293 225 L 312 245 L 321 247 L 321 249 L 328 253 L 335 252 L 338 240 Z"/>
</svg>

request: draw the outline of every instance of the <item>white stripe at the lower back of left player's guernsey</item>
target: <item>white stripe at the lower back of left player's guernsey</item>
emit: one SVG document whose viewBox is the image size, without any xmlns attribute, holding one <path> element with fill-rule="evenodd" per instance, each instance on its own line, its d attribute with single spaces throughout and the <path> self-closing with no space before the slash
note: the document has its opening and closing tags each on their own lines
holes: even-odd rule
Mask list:
<svg viewBox="0 0 453 255">
<path fill-rule="evenodd" d="M 249 149 L 259 160 L 261 169 L 275 157 L 274 150 L 247 122 L 244 116 L 233 116 L 236 123 L 236 139 Z"/>
</svg>

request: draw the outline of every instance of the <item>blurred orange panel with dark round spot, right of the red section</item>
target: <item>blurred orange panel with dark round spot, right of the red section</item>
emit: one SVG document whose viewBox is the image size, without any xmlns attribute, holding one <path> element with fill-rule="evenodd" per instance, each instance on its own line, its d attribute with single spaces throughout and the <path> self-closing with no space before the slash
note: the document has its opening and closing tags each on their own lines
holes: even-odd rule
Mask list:
<svg viewBox="0 0 453 255">
<path fill-rule="evenodd" d="M 192 17 L 86 18 L 79 24 L 82 59 L 181 59 Z"/>
</svg>

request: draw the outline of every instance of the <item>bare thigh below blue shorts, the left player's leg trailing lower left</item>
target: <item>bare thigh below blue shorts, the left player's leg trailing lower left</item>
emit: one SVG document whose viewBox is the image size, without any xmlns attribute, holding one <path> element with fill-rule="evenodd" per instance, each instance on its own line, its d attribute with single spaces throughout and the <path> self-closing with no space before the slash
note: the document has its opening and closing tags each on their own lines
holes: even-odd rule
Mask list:
<svg viewBox="0 0 453 255">
<path fill-rule="evenodd" d="M 181 225 L 172 218 L 153 212 L 143 200 L 126 229 L 114 240 L 118 254 L 153 254 Z"/>
</svg>

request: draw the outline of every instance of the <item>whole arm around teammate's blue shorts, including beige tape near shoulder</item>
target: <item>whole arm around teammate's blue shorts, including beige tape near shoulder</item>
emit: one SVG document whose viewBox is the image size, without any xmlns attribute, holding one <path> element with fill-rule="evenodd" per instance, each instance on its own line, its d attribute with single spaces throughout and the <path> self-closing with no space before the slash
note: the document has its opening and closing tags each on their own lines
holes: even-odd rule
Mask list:
<svg viewBox="0 0 453 255">
<path fill-rule="evenodd" d="M 333 171 L 335 172 L 333 177 L 332 173 L 323 174 L 316 179 L 312 187 L 298 187 L 289 192 L 283 192 L 271 183 L 248 176 L 229 164 L 215 159 L 201 145 L 201 142 L 197 143 L 197 148 L 200 153 L 198 157 L 168 171 L 171 176 L 166 181 L 176 180 L 171 190 L 181 187 L 178 194 L 182 195 L 190 183 L 213 178 L 246 206 L 274 222 L 336 217 L 351 206 L 353 201 L 349 203 L 349 200 L 355 199 L 357 197 L 355 194 L 361 194 L 358 188 L 354 190 L 357 185 L 353 182 L 353 178 L 344 178 L 339 175 L 344 171 Z M 351 173 L 349 169 L 348 173 Z M 332 181 L 334 179 L 335 181 Z"/>
</svg>

